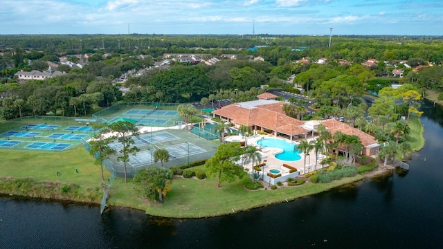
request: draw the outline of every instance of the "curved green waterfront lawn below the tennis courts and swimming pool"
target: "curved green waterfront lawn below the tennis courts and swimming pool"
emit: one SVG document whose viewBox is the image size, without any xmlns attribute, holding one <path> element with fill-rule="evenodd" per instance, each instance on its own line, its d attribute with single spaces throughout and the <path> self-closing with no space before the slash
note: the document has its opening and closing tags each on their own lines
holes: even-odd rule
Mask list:
<svg viewBox="0 0 443 249">
<path fill-rule="evenodd" d="M 339 181 L 325 184 L 305 183 L 300 187 L 281 187 L 278 190 L 249 191 L 244 189 L 248 178 L 237 180 L 233 183 L 221 183 L 217 188 L 217 178 L 208 178 L 204 181 L 197 179 L 174 178 L 171 191 L 168 192 L 164 204 L 147 201 L 136 196 L 133 184 L 125 184 L 122 179 L 114 182 L 111 205 L 128 204 L 132 208 L 146 210 L 147 214 L 154 216 L 197 218 L 206 216 L 219 216 L 235 212 L 263 207 L 273 203 L 300 198 L 319 192 L 324 192 L 333 187 L 359 181 L 361 175 L 352 178 L 342 178 Z M 269 186 L 265 186 L 268 187 Z M 233 209 L 233 210 L 232 210 Z"/>
</svg>

